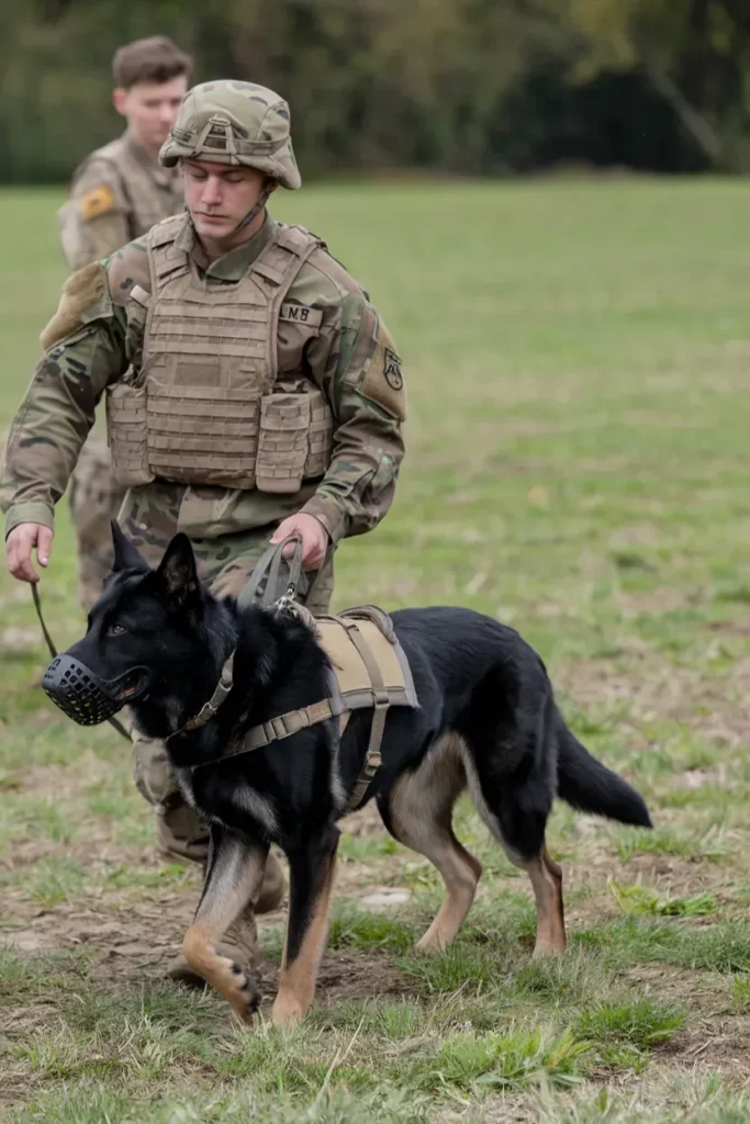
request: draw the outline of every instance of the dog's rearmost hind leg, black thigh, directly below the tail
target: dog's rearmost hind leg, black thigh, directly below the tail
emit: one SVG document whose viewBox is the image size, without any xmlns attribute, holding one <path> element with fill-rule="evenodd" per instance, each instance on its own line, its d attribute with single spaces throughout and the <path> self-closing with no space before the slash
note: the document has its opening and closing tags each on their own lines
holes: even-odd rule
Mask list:
<svg viewBox="0 0 750 1124">
<path fill-rule="evenodd" d="M 549 786 L 533 772 L 522 782 L 505 778 L 494 783 L 481 777 L 469 749 L 464 764 L 471 798 L 505 849 L 510 862 L 525 870 L 536 900 L 536 943 L 534 957 L 566 950 L 566 923 L 562 906 L 562 871 L 550 859 L 544 830 L 552 798 Z"/>
</svg>

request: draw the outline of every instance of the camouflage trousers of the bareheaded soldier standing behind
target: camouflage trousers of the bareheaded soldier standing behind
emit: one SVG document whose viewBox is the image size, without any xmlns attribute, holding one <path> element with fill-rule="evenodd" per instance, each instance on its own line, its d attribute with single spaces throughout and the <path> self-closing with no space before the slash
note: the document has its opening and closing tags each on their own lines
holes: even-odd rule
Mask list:
<svg viewBox="0 0 750 1124">
<path fill-rule="evenodd" d="M 110 519 L 117 518 L 125 489 L 115 483 L 107 442 L 93 434 L 71 477 L 67 500 L 78 549 L 78 588 L 82 609 L 90 609 L 112 568 Z"/>
</svg>

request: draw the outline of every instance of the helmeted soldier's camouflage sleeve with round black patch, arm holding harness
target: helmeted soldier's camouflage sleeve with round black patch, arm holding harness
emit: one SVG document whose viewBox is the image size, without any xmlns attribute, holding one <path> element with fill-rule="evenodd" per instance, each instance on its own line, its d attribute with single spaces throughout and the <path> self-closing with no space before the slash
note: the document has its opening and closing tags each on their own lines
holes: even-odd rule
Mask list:
<svg viewBox="0 0 750 1124">
<path fill-rule="evenodd" d="M 333 408 L 335 429 L 328 471 L 302 510 L 337 542 L 371 531 L 394 500 L 406 419 L 401 362 L 361 290 L 324 310 L 307 357 Z"/>
</svg>

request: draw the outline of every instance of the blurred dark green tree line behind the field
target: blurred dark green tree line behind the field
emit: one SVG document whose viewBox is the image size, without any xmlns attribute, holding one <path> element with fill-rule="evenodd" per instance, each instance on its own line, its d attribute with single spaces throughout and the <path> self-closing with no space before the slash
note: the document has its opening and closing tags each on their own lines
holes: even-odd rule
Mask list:
<svg viewBox="0 0 750 1124">
<path fill-rule="evenodd" d="M 6 182 L 116 135 L 112 53 L 154 34 L 196 80 L 282 92 L 308 176 L 750 164 L 750 0 L 26 0 L 3 25 Z"/>
</svg>

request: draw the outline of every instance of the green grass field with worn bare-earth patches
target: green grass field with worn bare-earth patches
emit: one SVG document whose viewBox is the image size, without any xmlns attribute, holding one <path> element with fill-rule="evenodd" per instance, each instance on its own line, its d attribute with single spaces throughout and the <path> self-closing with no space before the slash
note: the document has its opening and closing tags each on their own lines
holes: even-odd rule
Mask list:
<svg viewBox="0 0 750 1124">
<path fill-rule="evenodd" d="M 64 275 L 58 198 L 2 196 L 0 426 Z M 117 735 L 45 701 L 29 591 L 3 575 L 7 1121 L 750 1121 L 747 185 L 314 188 L 277 214 L 363 281 L 408 378 L 398 498 L 338 552 L 336 604 L 513 624 L 656 831 L 555 809 L 570 945 L 532 963 L 530 887 L 462 805 L 485 876 L 454 949 L 425 958 L 436 876 L 365 810 L 313 1014 L 269 1025 L 272 915 L 264 1017 L 240 1031 L 162 982 L 197 874 L 155 858 Z M 61 645 L 81 632 L 74 589 L 63 504 L 43 582 Z M 368 904 L 389 890 L 399 905 Z"/>
</svg>

